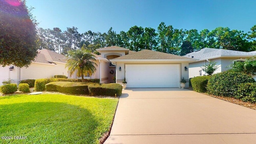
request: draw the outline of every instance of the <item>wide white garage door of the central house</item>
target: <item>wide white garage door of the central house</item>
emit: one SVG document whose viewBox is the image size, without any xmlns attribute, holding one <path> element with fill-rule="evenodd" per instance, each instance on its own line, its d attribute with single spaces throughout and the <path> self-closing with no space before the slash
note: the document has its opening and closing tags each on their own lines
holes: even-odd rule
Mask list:
<svg viewBox="0 0 256 144">
<path fill-rule="evenodd" d="M 179 64 L 126 64 L 127 88 L 176 88 L 180 85 Z"/>
</svg>

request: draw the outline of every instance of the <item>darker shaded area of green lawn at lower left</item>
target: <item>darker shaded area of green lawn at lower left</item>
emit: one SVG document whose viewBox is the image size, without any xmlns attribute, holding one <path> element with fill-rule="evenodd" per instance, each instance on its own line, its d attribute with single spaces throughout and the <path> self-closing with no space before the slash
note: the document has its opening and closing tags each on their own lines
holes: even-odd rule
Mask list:
<svg viewBox="0 0 256 144">
<path fill-rule="evenodd" d="M 60 102 L 0 105 L 1 136 L 27 136 L 0 143 L 95 143 L 99 124 L 92 113 Z M 2 141 L 2 142 L 1 142 Z"/>
</svg>

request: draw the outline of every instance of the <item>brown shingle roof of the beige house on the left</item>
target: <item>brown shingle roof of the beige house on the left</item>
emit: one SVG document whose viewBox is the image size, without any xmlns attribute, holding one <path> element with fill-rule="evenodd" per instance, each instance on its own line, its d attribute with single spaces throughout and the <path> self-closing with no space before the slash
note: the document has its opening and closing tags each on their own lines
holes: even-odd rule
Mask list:
<svg viewBox="0 0 256 144">
<path fill-rule="evenodd" d="M 53 62 L 66 63 L 65 58 L 66 56 L 64 56 L 63 54 L 59 54 L 51 50 L 43 49 L 43 50 L 38 50 L 38 55 L 36 56 L 34 62 L 42 62 L 47 64 L 53 63 Z"/>
</svg>

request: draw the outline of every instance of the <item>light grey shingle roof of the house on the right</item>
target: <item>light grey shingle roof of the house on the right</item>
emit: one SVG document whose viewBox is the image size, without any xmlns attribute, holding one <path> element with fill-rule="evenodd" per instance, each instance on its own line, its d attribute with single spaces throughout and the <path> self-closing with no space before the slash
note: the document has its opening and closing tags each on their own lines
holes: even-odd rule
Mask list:
<svg viewBox="0 0 256 144">
<path fill-rule="evenodd" d="M 194 58 L 198 60 L 213 58 L 213 57 L 225 57 L 225 56 L 253 56 L 251 52 L 241 52 L 235 50 L 224 50 L 216 48 L 203 48 L 196 52 L 190 52 L 185 55 L 187 58 Z"/>
</svg>

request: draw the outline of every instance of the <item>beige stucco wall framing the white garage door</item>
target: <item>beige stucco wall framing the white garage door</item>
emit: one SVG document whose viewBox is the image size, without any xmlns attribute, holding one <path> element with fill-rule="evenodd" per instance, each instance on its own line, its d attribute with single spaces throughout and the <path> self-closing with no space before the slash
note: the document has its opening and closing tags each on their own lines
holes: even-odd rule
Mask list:
<svg viewBox="0 0 256 144">
<path fill-rule="evenodd" d="M 116 68 L 118 70 L 116 70 L 116 83 L 121 84 L 121 85 L 122 85 L 122 81 L 124 80 L 124 77 L 125 77 L 125 65 L 126 64 L 180 64 L 180 79 L 182 79 L 182 77 L 184 77 L 184 79 L 187 81 L 186 88 L 189 86 L 189 78 L 188 78 L 189 70 L 185 71 L 185 66 L 188 68 L 188 62 L 161 62 L 161 63 L 117 62 Z M 121 67 L 121 69 L 122 69 L 121 71 L 119 71 L 119 67 Z M 127 80 L 127 82 L 129 82 L 129 80 Z"/>
</svg>

